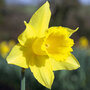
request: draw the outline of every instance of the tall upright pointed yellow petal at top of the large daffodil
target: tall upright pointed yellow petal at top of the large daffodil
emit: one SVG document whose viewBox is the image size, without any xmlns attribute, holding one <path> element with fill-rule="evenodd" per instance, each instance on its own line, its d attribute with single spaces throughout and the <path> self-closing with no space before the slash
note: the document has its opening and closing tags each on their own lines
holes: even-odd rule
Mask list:
<svg viewBox="0 0 90 90">
<path fill-rule="evenodd" d="M 42 5 L 32 16 L 29 24 L 32 25 L 37 32 L 38 37 L 42 37 L 48 29 L 51 12 L 48 1 Z"/>
</svg>

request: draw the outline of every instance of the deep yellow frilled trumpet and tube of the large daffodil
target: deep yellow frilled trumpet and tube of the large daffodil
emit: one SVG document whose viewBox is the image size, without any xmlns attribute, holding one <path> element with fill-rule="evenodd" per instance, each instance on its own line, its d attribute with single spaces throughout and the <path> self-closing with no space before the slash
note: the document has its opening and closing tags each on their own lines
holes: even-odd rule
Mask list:
<svg viewBox="0 0 90 90">
<path fill-rule="evenodd" d="M 50 28 L 44 38 L 37 38 L 32 44 L 36 55 L 48 55 L 56 61 L 64 61 L 73 51 L 73 39 L 61 27 Z"/>
</svg>

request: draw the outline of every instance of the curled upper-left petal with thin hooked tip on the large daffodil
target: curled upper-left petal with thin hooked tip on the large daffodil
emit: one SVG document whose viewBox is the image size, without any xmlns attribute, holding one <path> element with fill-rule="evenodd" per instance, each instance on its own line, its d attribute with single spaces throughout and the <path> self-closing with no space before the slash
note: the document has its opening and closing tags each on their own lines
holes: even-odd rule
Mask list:
<svg viewBox="0 0 90 90">
<path fill-rule="evenodd" d="M 26 25 L 26 29 L 23 33 L 19 35 L 18 41 L 21 45 L 28 46 L 31 43 L 31 41 L 36 37 L 36 32 L 31 27 L 31 25 L 26 23 L 26 21 L 24 21 L 24 23 Z"/>
</svg>

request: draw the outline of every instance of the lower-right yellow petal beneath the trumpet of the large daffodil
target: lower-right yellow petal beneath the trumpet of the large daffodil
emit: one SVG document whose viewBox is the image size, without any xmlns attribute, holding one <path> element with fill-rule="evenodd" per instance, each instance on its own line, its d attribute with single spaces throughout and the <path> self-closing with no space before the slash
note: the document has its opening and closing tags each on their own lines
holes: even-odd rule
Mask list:
<svg viewBox="0 0 90 90">
<path fill-rule="evenodd" d="M 56 60 L 51 59 L 50 60 L 53 66 L 53 70 L 74 70 L 80 67 L 79 62 L 77 59 L 71 55 L 67 58 L 67 60 L 58 62 Z"/>
</svg>

